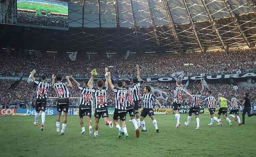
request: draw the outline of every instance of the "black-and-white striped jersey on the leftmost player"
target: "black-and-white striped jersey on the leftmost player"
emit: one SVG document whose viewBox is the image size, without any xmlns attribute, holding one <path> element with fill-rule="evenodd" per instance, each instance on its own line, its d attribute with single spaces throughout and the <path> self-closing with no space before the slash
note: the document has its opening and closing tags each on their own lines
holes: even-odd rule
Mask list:
<svg viewBox="0 0 256 157">
<path fill-rule="evenodd" d="M 49 87 L 51 87 L 51 84 L 47 81 L 34 81 L 37 84 L 37 99 L 44 99 L 48 98 L 47 93 L 49 91 Z"/>
</svg>

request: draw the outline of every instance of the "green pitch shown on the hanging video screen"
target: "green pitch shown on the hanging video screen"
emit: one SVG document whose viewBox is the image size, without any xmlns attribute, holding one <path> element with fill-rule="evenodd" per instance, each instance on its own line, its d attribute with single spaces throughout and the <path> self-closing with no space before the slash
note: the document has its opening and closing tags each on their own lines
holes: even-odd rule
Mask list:
<svg viewBox="0 0 256 157">
<path fill-rule="evenodd" d="M 17 8 L 19 9 L 28 9 L 28 10 L 45 10 L 46 12 L 55 12 L 68 14 L 68 8 L 60 5 L 50 5 L 45 3 L 37 2 L 17 2 Z"/>
</svg>

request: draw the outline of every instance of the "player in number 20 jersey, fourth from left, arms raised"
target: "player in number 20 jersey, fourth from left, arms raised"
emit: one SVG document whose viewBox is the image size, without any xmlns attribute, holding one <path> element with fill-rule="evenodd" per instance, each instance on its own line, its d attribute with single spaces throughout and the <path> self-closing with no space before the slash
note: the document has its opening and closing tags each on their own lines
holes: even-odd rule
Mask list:
<svg viewBox="0 0 256 157">
<path fill-rule="evenodd" d="M 108 69 L 105 68 L 105 72 L 108 72 Z M 95 104 L 95 132 L 94 132 L 94 136 L 96 138 L 99 137 L 98 134 L 98 129 L 99 129 L 99 120 L 100 117 L 103 118 L 104 120 L 104 124 L 105 125 L 109 125 L 110 128 L 113 128 L 113 123 L 111 121 L 111 119 L 109 118 L 109 111 L 107 108 L 107 90 L 108 90 L 108 84 L 109 81 L 108 79 L 106 79 L 105 85 L 103 80 L 99 79 L 97 81 L 97 88 L 93 88 L 93 85 L 91 84 L 91 82 L 93 81 L 94 76 L 92 75 L 89 82 L 88 82 L 88 87 L 93 89 L 94 92 L 94 97 L 96 99 L 96 104 Z"/>
</svg>

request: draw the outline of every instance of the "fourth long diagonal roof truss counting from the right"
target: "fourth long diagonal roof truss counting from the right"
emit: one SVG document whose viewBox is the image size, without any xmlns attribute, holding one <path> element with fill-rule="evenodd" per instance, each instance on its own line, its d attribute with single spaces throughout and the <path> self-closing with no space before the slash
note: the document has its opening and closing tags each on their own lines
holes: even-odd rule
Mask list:
<svg viewBox="0 0 256 157">
<path fill-rule="evenodd" d="M 177 35 L 177 32 L 175 30 L 174 21 L 173 21 L 172 14 L 171 14 L 169 4 L 168 4 L 167 0 L 163 1 L 163 6 L 165 6 L 165 11 L 167 13 L 167 18 L 168 18 L 168 21 L 169 21 L 169 28 L 172 31 L 172 35 L 175 39 L 176 45 L 179 48 L 180 53 L 183 53 L 183 50 L 182 50 L 182 47 L 181 47 L 181 42 L 180 42 L 180 39 L 179 39 L 179 37 Z"/>
</svg>

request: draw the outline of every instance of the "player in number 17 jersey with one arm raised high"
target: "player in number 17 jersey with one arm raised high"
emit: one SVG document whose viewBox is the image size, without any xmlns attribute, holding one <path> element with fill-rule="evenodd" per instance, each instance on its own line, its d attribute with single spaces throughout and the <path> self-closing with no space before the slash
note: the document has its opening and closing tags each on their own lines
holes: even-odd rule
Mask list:
<svg viewBox="0 0 256 157">
<path fill-rule="evenodd" d="M 114 124 L 118 130 L 118 137 L 120 138 L 122 136 L 122 129 L 120 125 L 118 124 L 118 119 L 120 119 L 120 124 L 122 125 L 124 129 L 125 138 L 128 139 L 128 133 L 127 128 L 125 125 L 125 117 L 126 117 L 126 107 L 128 106 L 128 97 L 131 94 L 129 90 L 123 88 L 123 82 L 117 81 L 115 87 L 112 84 L 111 73 L 109 72 L 108 81 L 109 81 L 109 87 L 113 90 L 115 93 L 115 111 L 114 111 Z"/>
</svg>

